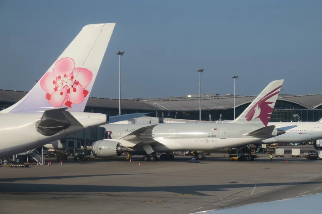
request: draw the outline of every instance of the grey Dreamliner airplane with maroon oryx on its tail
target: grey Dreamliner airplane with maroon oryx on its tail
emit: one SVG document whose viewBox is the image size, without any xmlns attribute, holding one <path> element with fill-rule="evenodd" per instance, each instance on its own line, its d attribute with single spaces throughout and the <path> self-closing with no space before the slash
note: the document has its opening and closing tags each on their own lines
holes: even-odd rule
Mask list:
<svg viewBox="0 0 322 214">
<path fill-rule="evenodd" d="M 144 155 L 155 161 L 156 152 L 166 152 L 160 159 L 173 159 L 171 151 L 217 150 L 250 144 L 282 135 L 275 125 L 267 126 L 284 80 L 271 82 L 234 123 L 172 123 L 102 125 L 106 139 L 87 147 L 96 157 L 113 157 L 123 152 Z M 258 111 L 261 108 L 262 111 Z M 56 143 L 45 145 L 57 148 Z"/>
</svg>

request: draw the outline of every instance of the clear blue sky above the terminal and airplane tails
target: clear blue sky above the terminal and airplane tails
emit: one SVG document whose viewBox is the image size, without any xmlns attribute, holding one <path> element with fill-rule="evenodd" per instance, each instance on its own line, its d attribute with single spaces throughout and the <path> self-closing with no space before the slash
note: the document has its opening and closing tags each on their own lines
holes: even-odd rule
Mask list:
<svg viewBox="0 0 322 214">
<path fill-rule="evenodd" d="M 90 96 L 322 93 L 322 1 L 0 1 L 0 89 L 29 91 L 86 24 L 116 22 Z"/>
</svg>

